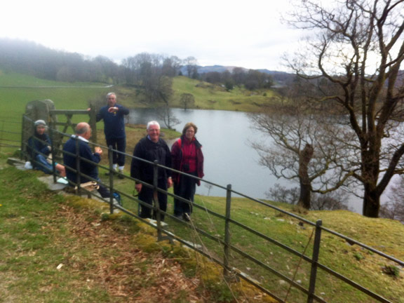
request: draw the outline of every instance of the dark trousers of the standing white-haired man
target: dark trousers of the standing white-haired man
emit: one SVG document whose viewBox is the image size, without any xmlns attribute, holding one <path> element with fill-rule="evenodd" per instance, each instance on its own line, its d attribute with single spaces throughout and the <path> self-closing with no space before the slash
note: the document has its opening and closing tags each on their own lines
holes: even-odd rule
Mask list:
<svg viewBox="0 0 404 303">
<path fill-rule="evenodd" d="M 149 184 L 153 184 L 153 181 L 145 181 Z M 160 189 L 167 190 L 167 180 L 161 179 L 157 185 Z M 154 189 L 146 187 L 144 184 L 142 185 L 142 190 L 139 193 L 139 200 L 149 204 L 149 206 L 140 205 L 140 213 L 139 216 L 142 218 L 152 218 L 152 210 L 153 210 L 153 200 L 154 200 Z M 160 210 L 164 212 L 167 210 L 167 194 L 163 194 L 161 192 L 157 192 L 157 200 L 159 201 Z M 157 201 L 155 201 L 156 203 Z M 153 219 L 156 219 L 156 213 L 153 213 Z M 161 221 L 164 221 L 164 214 L 160 213 Z"/>
</svg>

